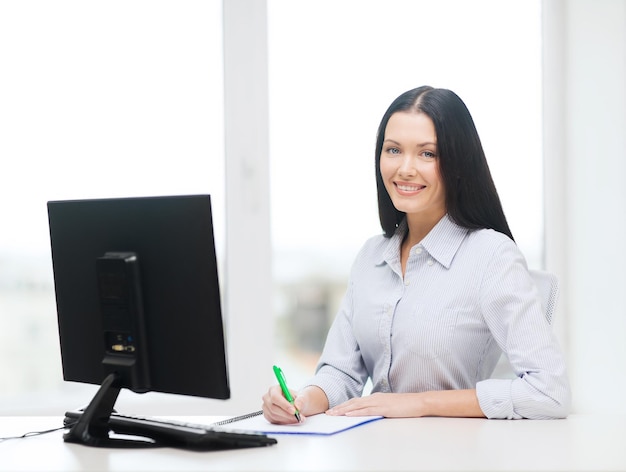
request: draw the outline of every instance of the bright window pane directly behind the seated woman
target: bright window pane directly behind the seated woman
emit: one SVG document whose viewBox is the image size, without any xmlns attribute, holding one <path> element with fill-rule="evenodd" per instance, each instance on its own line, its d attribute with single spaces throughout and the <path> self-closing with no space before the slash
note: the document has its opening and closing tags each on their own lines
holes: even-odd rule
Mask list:
<svg viewBox="0 0 626 472">
<path fill-rule="evenodd" d="M 269 0 L 277 357 L 313 373 L 352 259 L 378 234 L 375 133 L 419 85 L 467 104 L 517 243 L 542 265 L 540 2 Z"/>
</svg>

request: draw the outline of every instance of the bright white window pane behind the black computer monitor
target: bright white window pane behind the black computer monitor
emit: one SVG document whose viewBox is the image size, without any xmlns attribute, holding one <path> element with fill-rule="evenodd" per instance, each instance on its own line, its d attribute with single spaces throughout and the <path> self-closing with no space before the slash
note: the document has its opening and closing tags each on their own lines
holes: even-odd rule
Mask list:
<svg viewBox="0 0 626 472">
<path fill-rule="evenodd" d="M 211 193 L 223 228 L 221 21 L 218 1 L 0 4 L 2 414 L 91 398 L 62 380 L 48 200 Z"/>
</svg>

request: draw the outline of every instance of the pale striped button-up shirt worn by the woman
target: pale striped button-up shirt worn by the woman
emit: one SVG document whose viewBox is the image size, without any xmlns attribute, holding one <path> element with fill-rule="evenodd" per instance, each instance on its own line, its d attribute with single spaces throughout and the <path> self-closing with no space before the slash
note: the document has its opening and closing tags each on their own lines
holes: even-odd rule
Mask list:
<svg viewBox="0 0 626 472">
<path fill-rule="evenodd" d="M 312 385 L 330 406 L 372 392 L 476 388 L 489 418 L 559 418 L 570 408 L 562 352 L 516 244 L 445 216 L 411 248 L 400 225 L 366 242 Z M 490 379 L 504 352 L 517 377 Z"/>
</svg>

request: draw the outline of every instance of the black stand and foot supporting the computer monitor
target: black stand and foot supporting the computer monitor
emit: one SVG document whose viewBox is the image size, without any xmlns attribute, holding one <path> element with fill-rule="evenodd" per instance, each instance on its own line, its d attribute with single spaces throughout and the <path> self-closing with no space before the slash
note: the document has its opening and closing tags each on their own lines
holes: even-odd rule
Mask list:
<svg viewBox="0 0 626 472">
<path fill-rule="evenodd" d="M 120 393 L 120 376 L 113 372 L 109 374 L 96 392 L 78 421 L 63 435 L 65 442 L 79 443 L 92 447 L 109 448 L 137 448 L 155 447 L 157 444 L 150 440 L 111 438 L 109 432 L 109 418 L 113 413 L 115 401 Z"/>
</svg>

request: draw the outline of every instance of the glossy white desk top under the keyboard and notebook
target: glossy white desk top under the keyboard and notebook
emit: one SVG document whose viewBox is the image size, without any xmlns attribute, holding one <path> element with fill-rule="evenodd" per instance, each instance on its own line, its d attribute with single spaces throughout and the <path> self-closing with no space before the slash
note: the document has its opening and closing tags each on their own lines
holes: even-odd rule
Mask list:
<svg viewBox="0 0 626 472">
<path fill-rule="evenodd" d="M 185 418 L 211 422 L 215 418 Z M 0 418 L 0 437 L 61 424 Z M 566 420 L 383 419 L 334 436 L 278 436 L 265 448 L 218 452 L 97 449 L 62 431 L 0 442 L 1 471 L 626 470 L 626 416 Z"/>
</svg>

